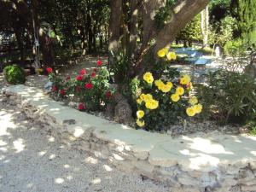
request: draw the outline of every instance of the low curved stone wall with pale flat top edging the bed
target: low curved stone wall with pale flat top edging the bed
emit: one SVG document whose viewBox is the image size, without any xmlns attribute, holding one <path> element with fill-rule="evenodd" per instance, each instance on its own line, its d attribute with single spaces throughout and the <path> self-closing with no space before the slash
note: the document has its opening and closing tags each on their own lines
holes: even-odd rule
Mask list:
<svg viewBox="0 0 256 192">
<path fill-rule="evenodd" d="M 49 125 L 61 141 L 125 171 L 165 182 L 175 192 L 256 191 L 256 137 L 215 132 L 172 139 L 81 113 L 36 88 L 15 85 L 3 94 L 29 118 Z"/>
</svg>

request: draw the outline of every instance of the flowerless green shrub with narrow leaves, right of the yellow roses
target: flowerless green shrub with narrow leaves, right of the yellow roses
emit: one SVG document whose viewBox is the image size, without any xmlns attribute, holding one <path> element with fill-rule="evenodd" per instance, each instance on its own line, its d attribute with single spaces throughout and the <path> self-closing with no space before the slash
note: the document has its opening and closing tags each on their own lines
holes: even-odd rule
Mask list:
<svg viewBox="0 0 256 192">
<path fill-rule="evenodd" d="M 256 80 L 236 72 L 218 70 L 207 75 L 207 85 L 198 88 L 203 116 L 220 122 L 245 123 L 255 119 Z"/>
</svg>

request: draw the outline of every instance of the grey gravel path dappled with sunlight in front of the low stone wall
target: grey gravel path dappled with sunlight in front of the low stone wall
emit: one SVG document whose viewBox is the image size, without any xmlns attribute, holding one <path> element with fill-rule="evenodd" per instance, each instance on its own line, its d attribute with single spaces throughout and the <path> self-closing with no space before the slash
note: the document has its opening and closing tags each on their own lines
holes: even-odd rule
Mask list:
<svg viewBox="0 0 256 192">
<path fill-rule="evenodd" d="M 68 148 L 0 95 L 0 191 L 170 191 L 121 172 L 107 161 Z"/>
</svg>

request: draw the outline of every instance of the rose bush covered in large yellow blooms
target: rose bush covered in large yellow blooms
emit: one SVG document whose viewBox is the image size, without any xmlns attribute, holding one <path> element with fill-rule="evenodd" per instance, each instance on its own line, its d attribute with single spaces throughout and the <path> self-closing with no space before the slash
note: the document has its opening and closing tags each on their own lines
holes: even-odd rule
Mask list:
<svg viewBox="0 0 256 192">
<path fill-rule="evenodd" d="M 170 54 L 171 53 L 171 54 Z M 202 106 L 196 97 L 189 96 L 192 83 L 188 75 L 180 76 L 177 70 L 163 70 L 176 59 L 173 52 L 161 49 L 159 69 L 144 73 L 137 96 L 137 126 L 146 130 L 164 130 L 179 119 L 201 113 Z M 165 64 L 165 65 L 163 65 Z M 165 67 L 164 67 L 165 68 Z"/>
</svg>

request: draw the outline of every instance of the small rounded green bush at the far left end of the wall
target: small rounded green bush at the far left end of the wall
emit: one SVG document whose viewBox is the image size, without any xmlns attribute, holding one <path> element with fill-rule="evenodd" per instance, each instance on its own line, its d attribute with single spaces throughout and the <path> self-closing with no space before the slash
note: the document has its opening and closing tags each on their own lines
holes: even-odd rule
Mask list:
<svg viewBox="0 0 256 192">
<path fill-rule="evenodd" d="M 3 74 L 9 84 L 24 84 L 26 81 L 23 68 L 17 65 L 4 67 Z"/>
</svg>

